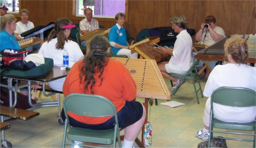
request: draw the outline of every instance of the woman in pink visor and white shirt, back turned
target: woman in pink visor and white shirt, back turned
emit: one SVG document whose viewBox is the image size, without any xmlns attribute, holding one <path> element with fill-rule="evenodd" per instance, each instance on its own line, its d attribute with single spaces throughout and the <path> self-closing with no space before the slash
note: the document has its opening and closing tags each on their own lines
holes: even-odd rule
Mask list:
<svg viewBox="0 0 256 148">
<path fill-rule="evenodd" d="M 75 25 L 67 18 L 57 19 L 55 27 L 50 32 L 48 39 L 41 46 L 38 54 L 42 54 L 43 57 L 52 58 L 54 66 L 63 66 L 63 52 L 67 49 L 69 53 L 69 68 L 71 68 L 75 62 L 82 60 L 84 55 L 79 45 L 71 40 L 68 40 L 71 28 Z M 60 78 L 48 82 L 50 88 L 56 91 L 62 92 L 62 86 L 65 78 Z M 40 86 L 32 86 L 33 90 L 41 88 Z"/>
</svg>

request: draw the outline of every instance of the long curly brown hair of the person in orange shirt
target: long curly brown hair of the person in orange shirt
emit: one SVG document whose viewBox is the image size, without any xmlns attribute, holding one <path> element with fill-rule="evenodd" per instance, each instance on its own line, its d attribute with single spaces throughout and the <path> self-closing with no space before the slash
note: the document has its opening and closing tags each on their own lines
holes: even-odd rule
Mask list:
<svg viewBox="0 0 256 148">
<path fill-rule="evenodd" d="M 91 90 L 93 94 L 93 86 L 96 83 L 94 75 L 99 72 L 99 78 L 101 80 L 100 85 L 103 82 L 104 67 L 108 63 L 108 49 L 110 48 L 107 38 L 103 35 L 96 35 L 90 42 L 90 53 L 84 57 L 82 62 L 80 81 L 84 84 L 84 90 Z M 84 81 L 83 81 L 84 78 Z"/>
</svg>

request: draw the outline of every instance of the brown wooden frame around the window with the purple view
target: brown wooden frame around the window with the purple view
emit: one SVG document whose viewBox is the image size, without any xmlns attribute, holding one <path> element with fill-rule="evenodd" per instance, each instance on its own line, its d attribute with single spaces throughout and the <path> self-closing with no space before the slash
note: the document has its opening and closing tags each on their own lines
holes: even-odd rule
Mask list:
<svg viewBox="0 0 256 148">
<path fill-rule="evenodd" d="M 72 20 L 82 20 L 84 17 L 78 17 L 76 16 L 76 3 L 77 0 L 69 1 L 70 5 L 70 19 Z M 125 9 L 126 9 L 126 19 L 125 23 L 128 23 L 128 4 L 129 0 L 126 0 Z M 98 21 L 106 21 L 106 22 L 116 22 L 115 18 L 99 18 L 99 17 L 93 17 L 94 19 L 97 19 Z"/>
</svg>

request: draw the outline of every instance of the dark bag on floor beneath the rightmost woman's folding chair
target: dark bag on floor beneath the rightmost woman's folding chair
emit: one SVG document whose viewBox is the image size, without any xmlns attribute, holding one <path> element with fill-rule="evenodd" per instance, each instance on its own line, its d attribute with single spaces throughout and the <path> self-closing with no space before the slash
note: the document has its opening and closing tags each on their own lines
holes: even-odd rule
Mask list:
<svg viewBox="0 0 256 148">
<path fill-rule="evenodd" d="M 218 136 L 220 137 L 220 136 Z M 211 140 L 211 146 L 213 147 L 228 147 L 226 146 L 226 140 L 215 137 Z M 223 137 L 222 137 L 223 138 Z M 208 147 L 208 142 L 201 142 L 198 144 L 198 148 Z"/>
</svg>

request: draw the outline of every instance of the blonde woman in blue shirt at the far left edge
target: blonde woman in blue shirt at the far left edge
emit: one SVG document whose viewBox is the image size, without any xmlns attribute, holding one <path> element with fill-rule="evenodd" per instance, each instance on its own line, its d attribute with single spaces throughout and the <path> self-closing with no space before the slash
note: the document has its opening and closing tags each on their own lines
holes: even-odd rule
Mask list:
<svg viewBox="0 0 256 148">
<path fill-rule="evenodd" d="M 4 49 L 21 49 L 13 34 L 16 30 L 16 20 L 13 14 L 5 14 L 1 18 L 0 51 Z"/>
</svg>

